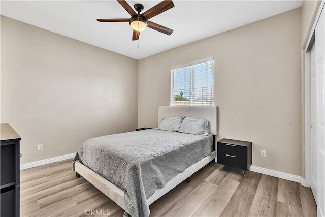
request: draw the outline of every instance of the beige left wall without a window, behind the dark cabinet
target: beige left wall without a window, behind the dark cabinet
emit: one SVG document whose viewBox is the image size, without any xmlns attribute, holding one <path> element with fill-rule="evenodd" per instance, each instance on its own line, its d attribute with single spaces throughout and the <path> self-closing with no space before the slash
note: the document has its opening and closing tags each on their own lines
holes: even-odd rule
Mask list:
<svg viewBox="0 0 325 217">
<path fill-rule="evenodd" d="M 22 137 L 21 163 L 134 131 L 137 77 L 135 59 L 1 17 L 1 123 Z"/>
</svg>

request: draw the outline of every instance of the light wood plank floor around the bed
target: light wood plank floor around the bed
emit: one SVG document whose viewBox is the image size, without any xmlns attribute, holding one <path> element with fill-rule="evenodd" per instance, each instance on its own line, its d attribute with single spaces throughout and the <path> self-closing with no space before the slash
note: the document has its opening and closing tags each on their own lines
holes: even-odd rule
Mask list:
<svg viewBox="0 0 325 217">
<path fill-rule="evenodd" d="M 92 209 L 103 216 L 123 216 L 113 201 L 84 178 L 76 178 L 71 161 L 20 172 L 20 216 L 90 216 Z M 251 171 L 244 178 L 241 170 L 214 162 L 150 210 L 150 216 L 316 216 L 310 188 Z"/>
</svg>

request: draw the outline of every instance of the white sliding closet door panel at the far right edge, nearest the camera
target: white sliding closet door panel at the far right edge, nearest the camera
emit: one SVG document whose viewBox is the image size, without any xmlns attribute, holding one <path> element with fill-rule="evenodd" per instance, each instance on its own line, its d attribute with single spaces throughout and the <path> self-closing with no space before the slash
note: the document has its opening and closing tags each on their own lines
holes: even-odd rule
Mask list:
<svg viewBox="0 0 325 217">
<path fill-rule="evenodd" d="M 316 60 L 316 178 L 317 215 L 325 215 L 325 16 L 321 13 L 315 28 Z"/>
</svg>

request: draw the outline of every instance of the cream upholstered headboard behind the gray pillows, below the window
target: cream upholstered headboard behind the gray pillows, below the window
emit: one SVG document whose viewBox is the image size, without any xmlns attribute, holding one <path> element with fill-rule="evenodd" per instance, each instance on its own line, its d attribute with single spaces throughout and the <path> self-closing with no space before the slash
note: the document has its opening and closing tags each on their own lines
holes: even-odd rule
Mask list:
<svg viewBox="0 0 325 217">
<path fill-rule="evenodd" d="M 164 117 L 202 117 L 209 120 L 210 133 L 217 135 L 217 107 L 216 106 L 159 106 L 158 125 Z"/>
</svg>

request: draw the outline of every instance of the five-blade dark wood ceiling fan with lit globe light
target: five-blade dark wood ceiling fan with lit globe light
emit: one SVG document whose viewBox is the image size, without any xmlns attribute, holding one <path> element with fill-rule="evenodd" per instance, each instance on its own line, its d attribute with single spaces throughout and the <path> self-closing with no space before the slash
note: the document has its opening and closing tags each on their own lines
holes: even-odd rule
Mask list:
<svg viewBox="0 0 325 217">
<path fill-rule="evenodd" d="M 129 24 L 133 28 L 132 40 L 138 40 L 140 36 L 140 32 L 145 30 L 147 27 L 167 35 L 171 35 L 173 33 L 174 31 L 173 29 L 167 28 L 165 26 L 159 25 L 157 23 L 148 20 L 160 13 L 163 13 L 164 11 L 173 8 L 174 7 L 173 1 L 165 0 L 163 2 L 160 2 L 142 14 L 140 14 L 140 12 L 144 9 L 144 7 L 141 4 L 134 5 L 134 8 L 138 12 L 137 14 L 125 0 L 117 0 L 117 2 L 119 2 L 119 4 L 121 4 L 123 8 L 131 15 L 131 18 L 97 19 L 97 20 L 99 22 L 129 22 Z"/>
</svg>

